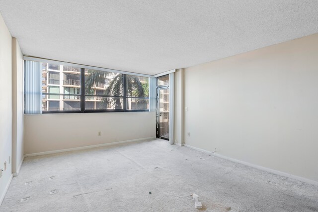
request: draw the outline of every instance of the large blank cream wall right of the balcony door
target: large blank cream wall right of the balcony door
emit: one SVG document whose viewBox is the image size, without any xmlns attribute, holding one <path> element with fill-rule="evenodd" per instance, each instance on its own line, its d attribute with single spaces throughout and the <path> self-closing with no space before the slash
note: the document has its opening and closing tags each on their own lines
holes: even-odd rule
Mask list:
<svg viewBox="0 0 318 212">
<path fill-rule="evenodd" d="M 318 181 L 318 34 L 184 77 L 186 144 Z"/>
</svg>

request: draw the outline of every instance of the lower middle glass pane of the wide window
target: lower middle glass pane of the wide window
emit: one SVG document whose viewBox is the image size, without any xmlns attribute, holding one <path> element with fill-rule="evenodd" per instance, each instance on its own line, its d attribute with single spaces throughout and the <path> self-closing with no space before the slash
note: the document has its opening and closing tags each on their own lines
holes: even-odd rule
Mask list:
<svg viewBox="0 0 318 212">
<path fill-rule="evenodd" d="M 123 109 L 123 98 L 85 97 L 85 109 Z"/>
</svg>

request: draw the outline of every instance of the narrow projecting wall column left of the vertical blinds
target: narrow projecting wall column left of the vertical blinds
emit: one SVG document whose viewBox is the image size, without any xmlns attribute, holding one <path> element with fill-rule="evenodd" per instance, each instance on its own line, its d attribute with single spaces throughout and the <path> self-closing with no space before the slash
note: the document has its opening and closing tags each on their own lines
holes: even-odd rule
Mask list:
<svg viewBox="0 0 318 212">
<path fill-rule="evenodd" d="M 17 175 L 23 160 L 23 55 L 12 38 L 12 172 Z"/>
</svg>

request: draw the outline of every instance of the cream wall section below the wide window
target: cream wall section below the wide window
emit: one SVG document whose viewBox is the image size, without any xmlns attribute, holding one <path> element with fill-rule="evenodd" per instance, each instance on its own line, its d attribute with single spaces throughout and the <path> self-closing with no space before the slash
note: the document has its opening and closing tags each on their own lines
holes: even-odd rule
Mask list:
<svg viewBox="0 0 318 212">
<path fill-rule="evenodd" d="M 24 154 L 155 136 L 155 112 L 24 115 Z"/>
</svg>

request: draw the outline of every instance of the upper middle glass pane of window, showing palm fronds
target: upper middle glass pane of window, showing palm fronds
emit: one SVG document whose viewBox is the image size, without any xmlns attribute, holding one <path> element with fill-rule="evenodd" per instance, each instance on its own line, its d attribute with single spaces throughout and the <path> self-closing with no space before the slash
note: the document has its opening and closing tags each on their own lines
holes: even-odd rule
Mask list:
<svg viewBox="0 0 318 212">
<path fill-rule="evenodd" d="M 85 69 L 85 94 L 123 96 L 123 75 Z"/>
</svg>

